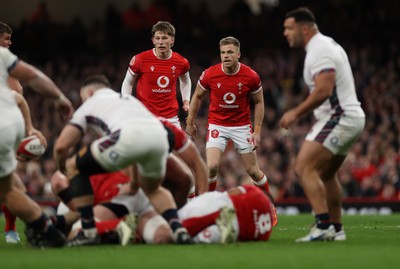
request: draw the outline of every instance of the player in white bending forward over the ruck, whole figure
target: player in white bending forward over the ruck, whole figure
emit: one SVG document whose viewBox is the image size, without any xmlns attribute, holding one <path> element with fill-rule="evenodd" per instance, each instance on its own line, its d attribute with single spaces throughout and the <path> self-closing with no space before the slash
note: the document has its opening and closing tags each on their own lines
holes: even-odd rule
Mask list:
<svg viewBox="0 0 400 269">
<path fill-rule="evenodd" d="M 72 202 L 81 214 L 82 230 L 69 246 L 98 244 L 93 217 L 90 175 L 136 165 L 139 185 L 152 205 L 170 224 L 177 243 L 191 239 L 177 216 L 171 193 L 161 186 L 168 156 L 167 131 L 135 97 L 110 88 L 103 75 L 88 77 L 81 87 L 83 104 L 65 126 L 54 146 L 58 169 L 70 180 Z M 98 139 L 69 157 L 86 132 Z"/>
</svg>

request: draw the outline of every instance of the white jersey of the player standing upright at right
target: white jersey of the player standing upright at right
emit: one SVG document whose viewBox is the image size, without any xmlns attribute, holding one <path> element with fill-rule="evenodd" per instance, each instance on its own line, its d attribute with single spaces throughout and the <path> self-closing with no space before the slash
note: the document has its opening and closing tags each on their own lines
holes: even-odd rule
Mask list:
<svg viewBox="0 0 400 269">
<path fill-rule="evenodd" d="M 326 115 L 345 114 L 365 117 L 357 99 L 353 73 L 344 49 L 332 38 L 321 33 L 315 34 L 306 46 L 303 77 L 312 92 L 314 77 L 321 72 L 334 70 L 336 85 L 332 96 L 314 110 L 317 119 Z"/>
</svg>

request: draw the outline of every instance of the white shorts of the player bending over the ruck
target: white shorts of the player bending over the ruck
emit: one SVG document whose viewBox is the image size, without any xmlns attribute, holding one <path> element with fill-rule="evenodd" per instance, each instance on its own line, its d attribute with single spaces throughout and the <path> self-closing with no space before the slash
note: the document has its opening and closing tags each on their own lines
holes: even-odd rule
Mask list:
<svg viewBox="0 0 400 269">
<path fill-rule="evenodd" d="M 162 124 L 135 123 L 119 134 L 101 137 L 91 145 L 93 157 L 107 171 L 117 171 L 136 163 L 148 178 L 164 177 L 168 157 L 167 131 Z"/>
</svg>

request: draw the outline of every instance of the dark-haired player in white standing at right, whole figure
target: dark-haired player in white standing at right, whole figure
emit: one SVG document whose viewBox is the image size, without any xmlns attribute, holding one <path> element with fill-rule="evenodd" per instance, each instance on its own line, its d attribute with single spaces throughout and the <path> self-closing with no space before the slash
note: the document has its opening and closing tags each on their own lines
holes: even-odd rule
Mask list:
<svg viewBox="0 0 400 269">
<path fill-rule="evenodd" d="M 303 77 L 310 94 L 284 113 L 279 125 L 288 129 L 311 112 L 317 120 L 295 163 L 295 172 L 315 213 L 315 225 L 296 241 L 346 240 L 337 171 L 365 125 L 351 66 L 344 49 L 319 32 L 314 14 L 306 7 L 286 14 L 283 35 L 291 48 L 303 47 L 306 51 Z"/>
</svg>

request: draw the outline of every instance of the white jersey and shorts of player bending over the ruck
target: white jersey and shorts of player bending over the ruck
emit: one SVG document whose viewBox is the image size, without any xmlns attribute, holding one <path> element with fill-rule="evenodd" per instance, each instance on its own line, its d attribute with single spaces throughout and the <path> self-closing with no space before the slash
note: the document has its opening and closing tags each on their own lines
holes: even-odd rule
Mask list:
<svg viewBox="0 0 400 269">
<path fill-rule="evenodd" d="M 136 163 L 145 177 L 165 175 L 167 132 L 135 97 L 99 89 L 74 113 L 70 124 L 100 137 L 91 144 L 91 151 L 107 171 Z"/>
</svg>

